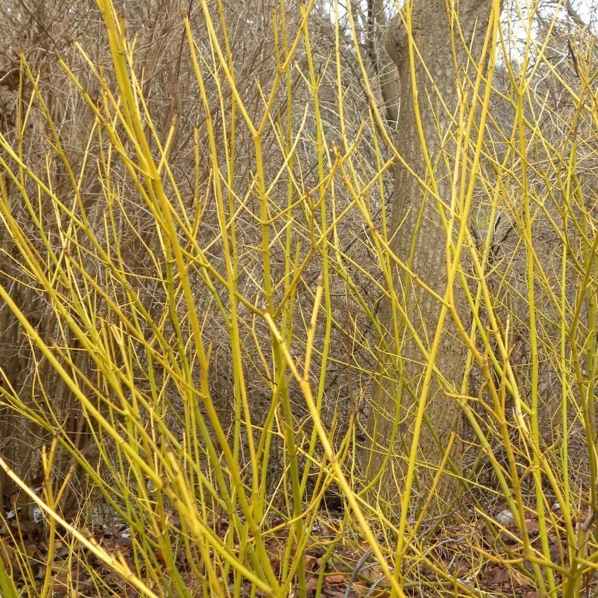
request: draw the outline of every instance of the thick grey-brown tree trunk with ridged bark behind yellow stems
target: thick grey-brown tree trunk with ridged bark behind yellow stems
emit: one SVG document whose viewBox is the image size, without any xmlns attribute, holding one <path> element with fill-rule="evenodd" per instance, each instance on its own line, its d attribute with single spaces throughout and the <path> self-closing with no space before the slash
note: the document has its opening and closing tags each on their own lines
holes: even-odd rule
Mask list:
<svg viewBox="0 0 598 598">
<path fill-rule="evenodd" d="M 403 17 L 396 16 L 390 24 L 386 43 L 388 53 L 396 65 L 401 89 L 401 110 L 395 133 L 396 147 L 414 173 L 430 185 L 431 178 L 426 169 L 425 152 L 422 149 L 416 120 L 417 110 L 414 102 L 417 102 L 426 151 L 435 170 L 438 196 L 446 205 L 450 205 L 451 178 L 456 154 L 456 144 L 450 140 L 456 137 L 453 118 L 459 118 L 456 82 L 464 80 L 466 70 L 467 75 L 475 81 L 476 71 L 475 66 L 471 65 L 471 60 L 469 68 L 466 68 L 468 53 L 460 38 L 457 19 L 451 23 L 452 15 L 447 11 L 447 4 L 450 10 L 450 2 L 411 0 L 410 4 L 416 93 L 412 85 L 404 14 Z M 469 45 L 476 61 L 482 53 L 492 4 L 492 0 L 454 2 L 454 15 L 458 18 L 463 39 Z M 455 49 L 451 39 L 454 39 Z M 469 95 L 471 96 L 471 93 Z M 447 132 L 450 133 L 447 135 Z M 447 233 L 442 224 L 440 209 L 442 208 L 437 199 L 427 193 L 407 169 L 398 164 L 395 170 L 395 192 L 389 229 L 389 236 L 392 238 L 390 246 L 403 263 L 410 264 L 411 271 L 423 283 L 437 295 L 444 297 L 447 289 Z M 445 213 L 445 216 L 449 218 L 448 213 Z M 455 228 L 458 231 L 459 225 Z M 462 264 L 462 268 L 466 270 L 465 264 Z M 463 291 L 457 288 L 458 285 L 458 282 L 454 285 L 453 302 L 460 319 L 467 327 L 468 309 Z M 440 318 L 440 301 L 405 276 L 402 271 L 395 270 L 393 288 L 398 303 L 405 307 L 411 324 L 429 352 Z M 382 310 L 382 319 L 389 331 L 389 338 L 394 339 L 390 301 L 382 306 Z M 427 364 L 424 362 L 422 351 L 401 322 L 398 322 L 398 327 L 400 346 L 396 348 L 394 340 L 389 341 L 389 346 L 395 347 L 398 356 L 391 354 L 386 358 L 387 363 L 382 367 L 380 383 L 377 385 L 379 396 L 373 398 L 368 422 L 374 448 L 367 457 L 368 479 L 373 479 L 380 468 L 385 466 L 376 490 L 391 505 L 398 504 L 397 498 L 405 489 L 414 422 L 422 396 L 425 399 L 425 414 L 434 428 L 437 439 L 426 423 L 423 423 L 417 441 L 417 468 L 411 496 L 419 496 L 420 502 L 428 497 L 428 491 L 432 487 L 453 432 L 456 433 L 456 439 L 450 453 L 451 458 L 458 464 L 462 454 L 462 414 L 459 404 L 454 398 L 443 393 L 434 374 L 426 396 L 423 389 Z M 447 315 L 435 365 L 458 392 L 465 376 L 465 359 L 465 344 L 460 340 L 450 315 Z M 399 368 L 403 374 L 402 385 L 396 383 L 396 372 Z M 389 373 L 392 375 L 389 376 Z M 393 438 L 392 430 L 397 420 L 398 432 Z M 441 446 L 438 446 L 438 440 Z M 385 453 L 388 452 L 390 444 L 394 456 L 385 463 Z M 443 508 L 444 501 L 450 501 L 456 496 L 458 486 L 457 478 L 443 474 L 429 511 L 438 512 Z"/>
</svg>

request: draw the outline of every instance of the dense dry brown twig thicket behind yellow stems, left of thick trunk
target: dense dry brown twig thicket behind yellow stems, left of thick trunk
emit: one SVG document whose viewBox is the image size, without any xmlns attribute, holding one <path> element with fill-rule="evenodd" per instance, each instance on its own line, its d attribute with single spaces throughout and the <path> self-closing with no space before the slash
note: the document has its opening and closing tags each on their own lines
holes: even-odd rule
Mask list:
<svg viewBox="0 0 598 598">
<path fill-rule="evenodd" d="M 301 19 L 297 10 L 294 10 L 292 2 L 288 4 L 286 26 L 289 31 L 297 30 Z M 272 39 L 271 10 L 277 2 L 234 2 L 222 3 L 224 9 L 228 39 L 230 46 L 234 49 L 234 71 L 237 81 L 240 81 L 239 91 L 242 101 L 246 106 L 251 107 L 256 115 L 263 109 L 263 95 L 271 86 L 271 80 L 276 72 L 274 62 Z M 296 8 L 296 7 L 295 7 Z M 217 14 L 217 5 L 214 2 L 213 14 Z M 206 248 L 206 254 L 213 260 L 214 264 L 220 264 L 222 271 L 222 245 L 219 239 L 218 216 L 215 210 L 213 196 L 210 193 L 210 184 L 213 173 L 210 172 L 208 138 L 205 129 L 206 115 L 202 109 L 197 91 L 192 66 L 190 65 L 187 40 L 182 25 L 181 14 L 188 11 L 191 28 L 194 38 L 206 40 L 204 45 L 199 45 L 198 51 L 208 60 L 213 51 L 207 41 L 206 25 L 203 20 L 200 7 L 194 3 L 187 2 L 127 2 L 127 32 L 135 36 L 135 68 L 138 70 L 142 80 L 143 96 L 147 102 L 148 111 L 154 115 L 154 125 L 158 135 L 167 135 L 172 118 L 178 116 L 178 124 L 173 136 L 170 148 L 170 168 L 173 176 L 178 181 L 179 191 L 183 202 L 192 205 L 196 196 L 203 197 L 202 225 L 197 231 L 198 240 L 201 246 Z M 338 141 L 341 131 L 338 126 L 338 102 L 336 100 L 335 81 L 336 75 L 329 62 L 331 48 L 334 46 L 334 28 L 329 19 L 329 13 L 318 12 L 310 17 L 310 32 L 312 35 L 313 59 L 316 63 L 316 71 L 322 76 L 319 86 L 319 97 L 321 102 L 322 120 L 325 124 L 327 144 Z M 69 68 L 78 78 L 81 85 L 101 102 L 102 94 L 100 84 L 96 75 L 90 69 L 90 64 L 99 65 L 102 69 L 102 76 L 106 81 L 113 80 L 111 62 L 103 23 L 99 10 L 95 3 L 89 1 L 58 1 L 47 3 L 29 4 L 16 2 L 14 5 L 7 4 L 2 14 L 2 30 L 8 32 L 2 44 L 0 54 L 2 56 L 1 75 L 1 108 L 2 108 L 2 134 L 9 142 L 17 139 L 16 127 L 19 104 L 25 106 L 32 97 L 32 87 L 28 83 L 28 72 L 30 77 L 38 80 L 39 96 L 47 105 L 48 114 L 51 117 L 56 131 L 51 130 L 50 123 L 40 105 L 40 100 L 34 97 L 31 103 L 31 115 L 28 120 L 28 132 L 26 145 L 23 147 L 23 156 L 28 164 L 34 165 L 35 172 L 42 179 L 47 180 L 51 188 L 56 191 L 63 202 L 69 205 L 74 200 L 74 193 L 70 186 L 68 173 L 65 165 L 54 152 L 52 155 L 51 144 L 54 134 L 59 139 L 72 170 L 80 179 L 81 196 L 83 197 L 87 218 L 90 227 L 93 229 L 96 238 L 102 239 L 103 227 L 105 225 L 106 207 L 102 182 L 97 176 L 98 164 L 96 163 L 102 151 L 102 139 L 92 132 L 94 127 L 93 114 L 86 105 L 80 92 L 63 69 L 57 64 L 56 56 L 59 55 L 69 65 Z M 222 23 L 216 21 L 216 26 Z M 75 43 L 76 42 L 76 43 Z M 83 56 L 82 50 L 86 54 Z M 344 80 L 346 81 L 346 96 L 344 99 L 345 121 L 347 123 L 347 135 L 352 138 L 357 132 L 363 118 L 367 117 L 367 105 L 364 102 L 364 89 L 359 82 L 358 69 L 352 57 L 352 41 L 349 32 L 346 32 L 343 51 L 346 57 L 344 66 Z M 89 62 L 87 62 L 89 60 Z M 27 67 L 25 67 L 25 61 Z M 316 186 L 317 163 L 314 151 L 313 134 L 313 112 L 306 111 L 309 100 L 309 93 L 306 92 L 305 74 L 307 72 L 306 53 L 300 48 L 295 57 L 295 68 L 292 75 L 292 123 L 295 130 L 302 126 L 302 133 L 298 139 L 297 155 L 297 176 L 300 184 L 310 189 Z M 19 78 L 22 77 L 23 84 L 19 87 Z M 219 83 L 219 82 L 218 82 Z M 216 80 L 208 78 L 206 87 L 213 100 L 213 108 L 210 114 L 212 126 L 216 130 L 222 130 L 227 126 L 230 115 L 227 109 L 233 105 L 230 89 L 222 89 L 222 94 L 228 102 L 224 110 L 218 98 Z M 304 100 L 302 100 L 302 96 Z M 284 87 L 276 96 L 276 110 L 284 111 L 288 100 Z M 228 108 L 227 108 L 228 106 Z M 350 112 L 349 112 L 350 111 Z M 304 122 L 303 122 L 304 121 Z M 301 124 L 303 123 L 303 124 Z M 197 128 L 197 139 L 194 139 L 194 129 Z M 149 138 L 149 133 L 148 133 Z M 224 135 L 218 138 L 218 152 L 222 156 L 229 148 L 225 147 Z M 277 147 L 277 140 L 271 134 L 266 134 L 263 139 L 264 154 L 271 157 L 267 161 L 266 169 L 270 178 L 280 169 L 283 159 L 280 149 Z M 373 176 L 376 169 L 375 151 L 372 147 L 371 138 L 368 135 L 362 136 L 359 141 L 362 152 L 362 167 L 364 178 Z M 88 147 L 89 146 L 89 147 Z M 269 151 L 271 147 L 271 151 Z M 86 149 L 87 148 L 87 149 Z M 83 155 L 86 154 L 86 163 L 82 164 Z M 200 179 L 196 180 L 195 154 L 199 152 Z M 242 248 L 239 253 L 239 289 L 247 297 L 257 296 L 261 291 L 260 255 L 256 251 L 259 246 L 260 227 L 257 218 L 257 206 L 251 199 L 251 181 L 254 176 L 255 164 L 252 163 L 251 136 L 244 127 L 238 127 L 236 138 L 236 175 L 231 181 L 234 193 L 237 197 L 246 199 L 245 209 L 239 214 L 239 226 L 237 227 L 237 242 Z M 328 151 L 328 150 L 327 150 Z M 330 154 L 328 151 L 328 159 Z M 10 160 L 8 160 L 10 163 Z M 4 186 L 14 209 L 19 212 L 19 221 L 23 227 L 34 227 L 30 221 L 29 214 L 20 205 L 18 193 L 11 187 L 11 181 L 4 176 Z M 153 273 L 163 270 L 164 263 L 160 263 L 159 254 L 155 249 L 159 247 L 160 239 L 157 236 L 155 222 L 147 208 L 140 203 L 134 185 L 126 176 L 123 164 L 118 160 L 112 161 L 112 181 L 118 181 L 119 196 L 122 201 L 116 206 L 115 221 L 118 227 L 120 240 L 121 259 L 126 269 L 130 272 L 131 279 L 138 285 L 139 297 L 145 307 L 155 313 L 161 313 L 164 305 L 164 288 L 160 285 Z M 32 185 L 29 180 L 29 184 Z M 392 185 L 392 181 L 385 182 Z M 33 187 L 31 187 L 33 190 Z M 280 185 L 273 188 L 271 200 L 276 205 L 286 205 L 286 184 L 281 181 Z M 373 193 L 370 197 L 373 203 L 373 210 L 379 212 L 379 200 Z M 377 207 L 378 206 L 378 207 Z M 336 206 L 337 210 L 343 209 L 341 202 Z M 44 213 L 44 206 L 40 207 L 43 218 L 47 222 L 54 222 L 50 225 L 56 226 L 54 213 Z M 50 209 L 50 208 L 48 208 Z M 304 215 L 307 219 L 309 214 Z M 377 218 L 380 218 L 378 213 Z M 309 236 L 309 222 L 297 222 L 297 229 L 300 236 Z M 367 271 L 376 269 L 375 258 L 368 248 L 368 241 L 364 233 L 364 225 L 358 214 L 349 214 L 341 223 L 342 243 L 344 253 L 347 257 L 355 260 L 355 267 L 350 264 L 347 269 L 350 271 L 356 285 L 362 287 L 364 297 L 368 297 L 371 304 L 376 304 L 380 292 L 373 288 L 371 281 L 362 276 L 359 268 Z M 303 233 L 301 233 L 303 231 Z M 28 273 L 26 267 L 20 261 L 16 251 L 11 249 L 10 231 L 2 228 L 2 276 L 7 288 L 17 301 L 20 307 L 25 310 L 31 322 L 44 335 L 44 338 L 51 339 L 58 344 L 69 346 L 73 339 L 69 336 L 68 330 L 61 329 L 52 313 L 47 298 L 35 288 L 28 286 Z M 53 234 L 59 234 L 54 230 Z M 32 234 L 32 238 L 35 234 Z M 297 260 L 306 259 L 309 251 L 309 238 L 298 247 Z M 44 248 L 36 241 L 36 249 L 43 255 Z M 84 243 L 84 242 L 83 242 Z M 108 242 L 106 249 L 109 249 Z M 273 248 L 271 264 L 273 277 L 278 280 L 283 276 L 285 267 L 282 248 Z M 292 248 L 295 251 L 295 247 Z M 158 261 L 157 261 L 158 260 Z M 307 261 L 301 277 L 301 283 L 297 286 L 297 322 L 305 325 L 305 319 L 309 318 L 309 312 L 313 303 L 313 286 L 318 278 L 321 266 L 318 255 L 314 255 Z M 93 276 L 102 278 L 105 276 L 101 260 L 94 258 L 93 254 L 87 255 L 86 269 Z M 281 271 L 282 269 L 282 271 Z M 117 289 L 114 289 L 118 293 Z M 196 300 L 199 312 L 205 317 L 206 342 L 211 344 L 210 359 L 210 385 L 215 403 L 219 407 L 219 413 L 224 420 L 228 419 L 231 425 L 230 415 L 231 396 L 233 395 L 233 371 L 231 369 L 231 349 L 228 339 L 226 324 L 219 313 L 218 306 L 213 297 L 205 293 L 202 282 L 196 280 Z M 282 291 L 277 291 L 280 294 Z M 355 302 L 347 295 L 342 280 L 332 281 L 331 285 L 332 304 L 334 306 L 334 327 L 331 332 L 330 346 L 332 352 L 329 361 L 328 381 L 325 386 L 325 401 L 322 417 L 330 422 L 335 412 L 342 414 L 341 420 L 346 421 L 352 410 L 365 403 L 365 395 L 368 386 L 368 376 L 376 367 L 375 356 L 372 347 L 376 341 L 368 332 L 368 324 L 364 317 L 355 309 Z M 48 410 L 45 408 L 44 400 L 51 402 L 51 410 L 60 420 L 60 424 L 69 430 L 72 435 L 74 446 L 84 449 L 86 438 L 90 435 L 90 422 L 81 416 L 80 407 L 73 398 L 64 383 L 57 377 L 51 368 L 38 368 L 39 356 L 34 356 L 35 349 L 28 339 L 23 337 L 14 316 L 7 309 L 2 310 L 2 368 L 5 373 L 5 385 L 11 392 L 17 393 L 45 422 L 51 420 Z M 264 380 L 260 363 L 258 345 L 254 338 L 254 329 L 258 334 L 258 340 L 266 340 L 269 343 L 269 332 L 263 322 L 255 322 L 254 315 L 240 310 L 240 317 L 247 323 L 244 339 L 245 376 L 248 389 L 251 393 L 252 408 L 255 413 L 266 413 L 267 405 L 270 402 L 270 385 Z M 302 323 L 303 321 L 303 323 Z M 352 339 L 358 335 L 359 343 L 363 343 L 368 350 L 356 352 Z M 301 352 L 303 347 L 297 347 Z M 347 366 L 347 353 L 353 355 L 352 359 L 358 359 L 359 363 Z M 42 360 L 43 361 L 43 360 Z M 88 371 L 93 376 L 92 366 L 89 361 L 81 355 L 77 367 Z M 136 382 L 140 388 L 147 390 L 147 381 L 144 380 L 144 359 L 141 357 L 136 371 Z M 43 390 L 42 390 L 43 389 Z M 40 392 L 44 400 L 39 396 Z M 170 393 L 170 401 L 173 410 L 167 415 L 173 431 L 176 432 L 179 425 L 176 415 L 181 408 L 179 399 L 174 389 L 166 389 Z M 306 411 L 303 401 L 300 399 L 297 388 L 293 389 L 295 396 L 295 407 L 299 420 L 305 417 Z M 32 480 L 40 474 L 39 450 L 41 445 L 48 441 L 48 434 L 44 426 L 33 423 L 24 423 L 14 410 L 7 405 L 1 411 L 2 433 L 2 454 L 8 462 L 16 467 L 17 471 L 24 478 Z M 260 425 L 260 419 L 255 422 Z M 308 430 L 306 429 L 306 434 Z M 343 425 L 340 425 L 338 434 L 343 434 Z M 271 460 L 272 473 L 276 476 L 282 462 L 278 459 L 279 453 L 273 447 L 273 459 Z M 93 457 L 90 457 L 93 458 Z M 68 470 L 70 461 L 65 456 L 65 463 L 62 468 Z M 2 474 L 4 475 L 4 474 Z M 8 481 L 5 483 L 4 494 L 7 499 L 7 507 L 10 505 L 10 496 L 14 492 L 14 486 Z M 75 498 L 73 496 L 72 498 Z"/>
</svg>

